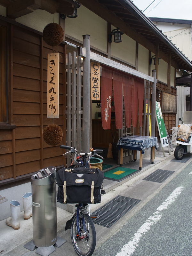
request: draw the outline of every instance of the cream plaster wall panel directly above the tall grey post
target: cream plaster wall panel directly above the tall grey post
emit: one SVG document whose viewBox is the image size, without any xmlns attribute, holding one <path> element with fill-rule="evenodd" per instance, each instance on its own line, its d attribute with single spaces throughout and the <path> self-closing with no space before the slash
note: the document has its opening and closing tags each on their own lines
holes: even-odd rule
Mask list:
<svg viewBox="0 0 192 256">
<path fill-rule="evenodd" d="M 65 34 L 83 41 L 83 35 L 90 35 L 90 45 L 107 52 L 107 21 L 84 6 L 77 9 L 77 18 L 65 19 Z"/>
</svg>

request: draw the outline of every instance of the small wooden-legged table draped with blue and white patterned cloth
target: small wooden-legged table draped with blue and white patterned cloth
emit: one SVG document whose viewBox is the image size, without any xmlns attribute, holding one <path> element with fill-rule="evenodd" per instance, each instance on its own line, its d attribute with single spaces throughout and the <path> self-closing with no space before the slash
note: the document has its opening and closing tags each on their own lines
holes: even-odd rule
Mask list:
<svg viewBox="0 0 192 256">
<path fill-rule="evenodd" d="M 117 146 L 120 148 L 120 165 L 123 164 L 123 149 L 132 149 L 133 150 L 133 158 L 136 161 L 136 150 L 140 151 L 140 165 L 139 169 L 142 168 L 142 155 L 145 153 L 146 148 L 152 148 L 152 161 L 154 163 L 154 148 L 158 147 L 157 137 L 152 136 L 127 136 L 119 138 L 117 142 Z"/>
</svg>

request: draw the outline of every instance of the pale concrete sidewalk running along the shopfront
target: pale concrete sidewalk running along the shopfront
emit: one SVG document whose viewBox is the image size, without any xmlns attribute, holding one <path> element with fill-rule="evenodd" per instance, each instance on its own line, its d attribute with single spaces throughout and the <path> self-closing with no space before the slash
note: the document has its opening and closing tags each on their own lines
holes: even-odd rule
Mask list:
<svg viewBox="0 0 192 256">
<path fill-rule="evenodd" d="M 191 154 L 190 154 L 191 155 Z M 190 156 L 189 155 L 189 156 Z M 161 184 L 152 184 L 156 182 L 151 182 L 150 186 L 143 186 L 142 185 L 142 179 L 148 176 L 150 173 L 154 172 L 157 169 L 165 169 L 165 170 L 171 170 L 175 173 L 171 175 L 172 179 L 175 175 L 177 175 L 178 172 L 180 172 L 187 164 L 189 164 L 190 161 L 192 161 L 191 157 L 186 158 L 186 163 L 180 163 L 180 161 L 175 160 L 174 158 L 174 152 L 171 152 L 171 155 L 169 155 L 168 151 L 165 151 L 165 157 L 163 156 L 162 151 L 156 151 L 155 156 L 155 163 L 150 164 L 150 156 L 143 158 L 143 166 L 142 170 L 140 172 L 137 172 L 133 174 L 132 176 L 118 182 L 118 181 L 112 181 L 112 180 L 106 180 L 104 179 L 104 189 L 106 191 L 106 194 L 102 195 L 101 204 L 94 204 L 91 205 L 92 212 L 96 209 L 100 208 L 103 204 L 106 204 L 108 201 L 113 199 L 116 195 L 119 193 L 123 194 L 126 191 L 126 195 L 130 195 L 134 198 L 140 198 L 142 200 L 142 203 L 139 204 L 139 208 L 141 208 L 144 204 L 146 204 L 147 201 L 149 201 L 157 192 L 158 189 L 160 189 L 162 186 L 166 184 L 166 182 L 163 182 Z M 130 162 L 128 164 L 124 164 L 123 167 L 129 167 L 139 170 L 139 160 L 136 162 Z M 120 186 L 121 185 L 121 186 Z M 140 191 L 140 186 L 142 187 L 142 191 Z M 1 207 L 3 207 L 3 204 L 1 204 Z M 136 206 L 135 206 L 136 207 Z M 139 208 L 131 210 L 128 214 L 131 216 L 134 214 L 135 211 L 137 211 Z M 134 207 L 133 207 L 134 208 Z M 5 223 L 5 220 L 0 221 L 0 254 L 6 255 L 6 256 L 21 256 L 21 255 L 37 255 L 35 253 L 36 250 L 33 252 L 29 251 L 28 249 L 24 248 L 23 245 L 28 243 L 29 241 L 33 240 L 33 226 L 32 226 L 32 218 L 29 220 L 23 219 L 24 212 L 21 212 L 20 214 L 20 229 L 14 230 L 11 227 L 8 227 Z M 62 245 L 61 247 L 65 247 L 65 254 L 64 255 L 73 255 L 71 252 L 72 250 L 72 244 L 69 237 L 66 237 L 66 232 L 64 231 L 65 223 L 67 220 L 69 220 L 72 217 L 72 213 L 65 211 L 59 207 L 57 207 L 57 231 L 60 236 L 60 234 L 63 234 L 62 238 L 66 238 L 69 243 L 66 243 L 66 245 Z M 110 236 L 113 232 L 118 228 L 115 225 L 114 227 L 111 227 L 110 232 L 108 232 L 108 228 L 102 228 L 99 225 L 96 226 L 96 233 L 100 234 L 99 239 L 97 239 L 97 245 L 99 246 L 104 240 L 107 239 L 108 234 L 110 233 Z M 97 227 L 99 226 L 99 228 Z M 105 234 L 105 236 L 103 235 Z M 67 233 L 68 235 L 68 233 Z M 100 239 L 100 237 L 102 239 Z M 70 244 L 70 247 L 68 246 Z M 67 247 L 66 247 L 67 246 Z M 61 248 L 60 247 L 60 248 Z M 69 248 L 68 248 L 69 247 Z M 60 248 L 56 247 L 56 251 L 53 252 L 51 255 L 59 255 Z M 75 252 L 74 252 L 75 253 Z M 76 255 L 76 253 L 74 254 Z"/>
</svg>

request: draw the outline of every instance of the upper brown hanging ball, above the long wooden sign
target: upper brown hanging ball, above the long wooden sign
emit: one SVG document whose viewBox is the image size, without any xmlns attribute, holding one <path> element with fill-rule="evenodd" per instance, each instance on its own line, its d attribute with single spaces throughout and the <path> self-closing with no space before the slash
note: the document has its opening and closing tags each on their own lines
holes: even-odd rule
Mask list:
<svg viewBox="0 0 192 256">
<path fill-rule="evenodd" d="M 49 23 L 44 27 L 43 39 L 52 46 L 59 45 L 63 41 L 64 31 L 57 23 Z"/>
</svg>

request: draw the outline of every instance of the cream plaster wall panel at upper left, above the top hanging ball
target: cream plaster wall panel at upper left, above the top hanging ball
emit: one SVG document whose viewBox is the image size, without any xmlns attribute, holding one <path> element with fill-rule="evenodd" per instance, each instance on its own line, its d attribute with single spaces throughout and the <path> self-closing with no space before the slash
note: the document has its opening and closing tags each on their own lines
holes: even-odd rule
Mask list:
<svg viewBox="0 0 192 256">
<path fill-rule="evenodd" d="M 52 22 L 59 24 L 59 13 L 51 14 L 44 10 L 35 10 L 32 13 L 26 14 L 15 19 L 17 22 L 43 32 L 44 27 Z"/>
</svg>

